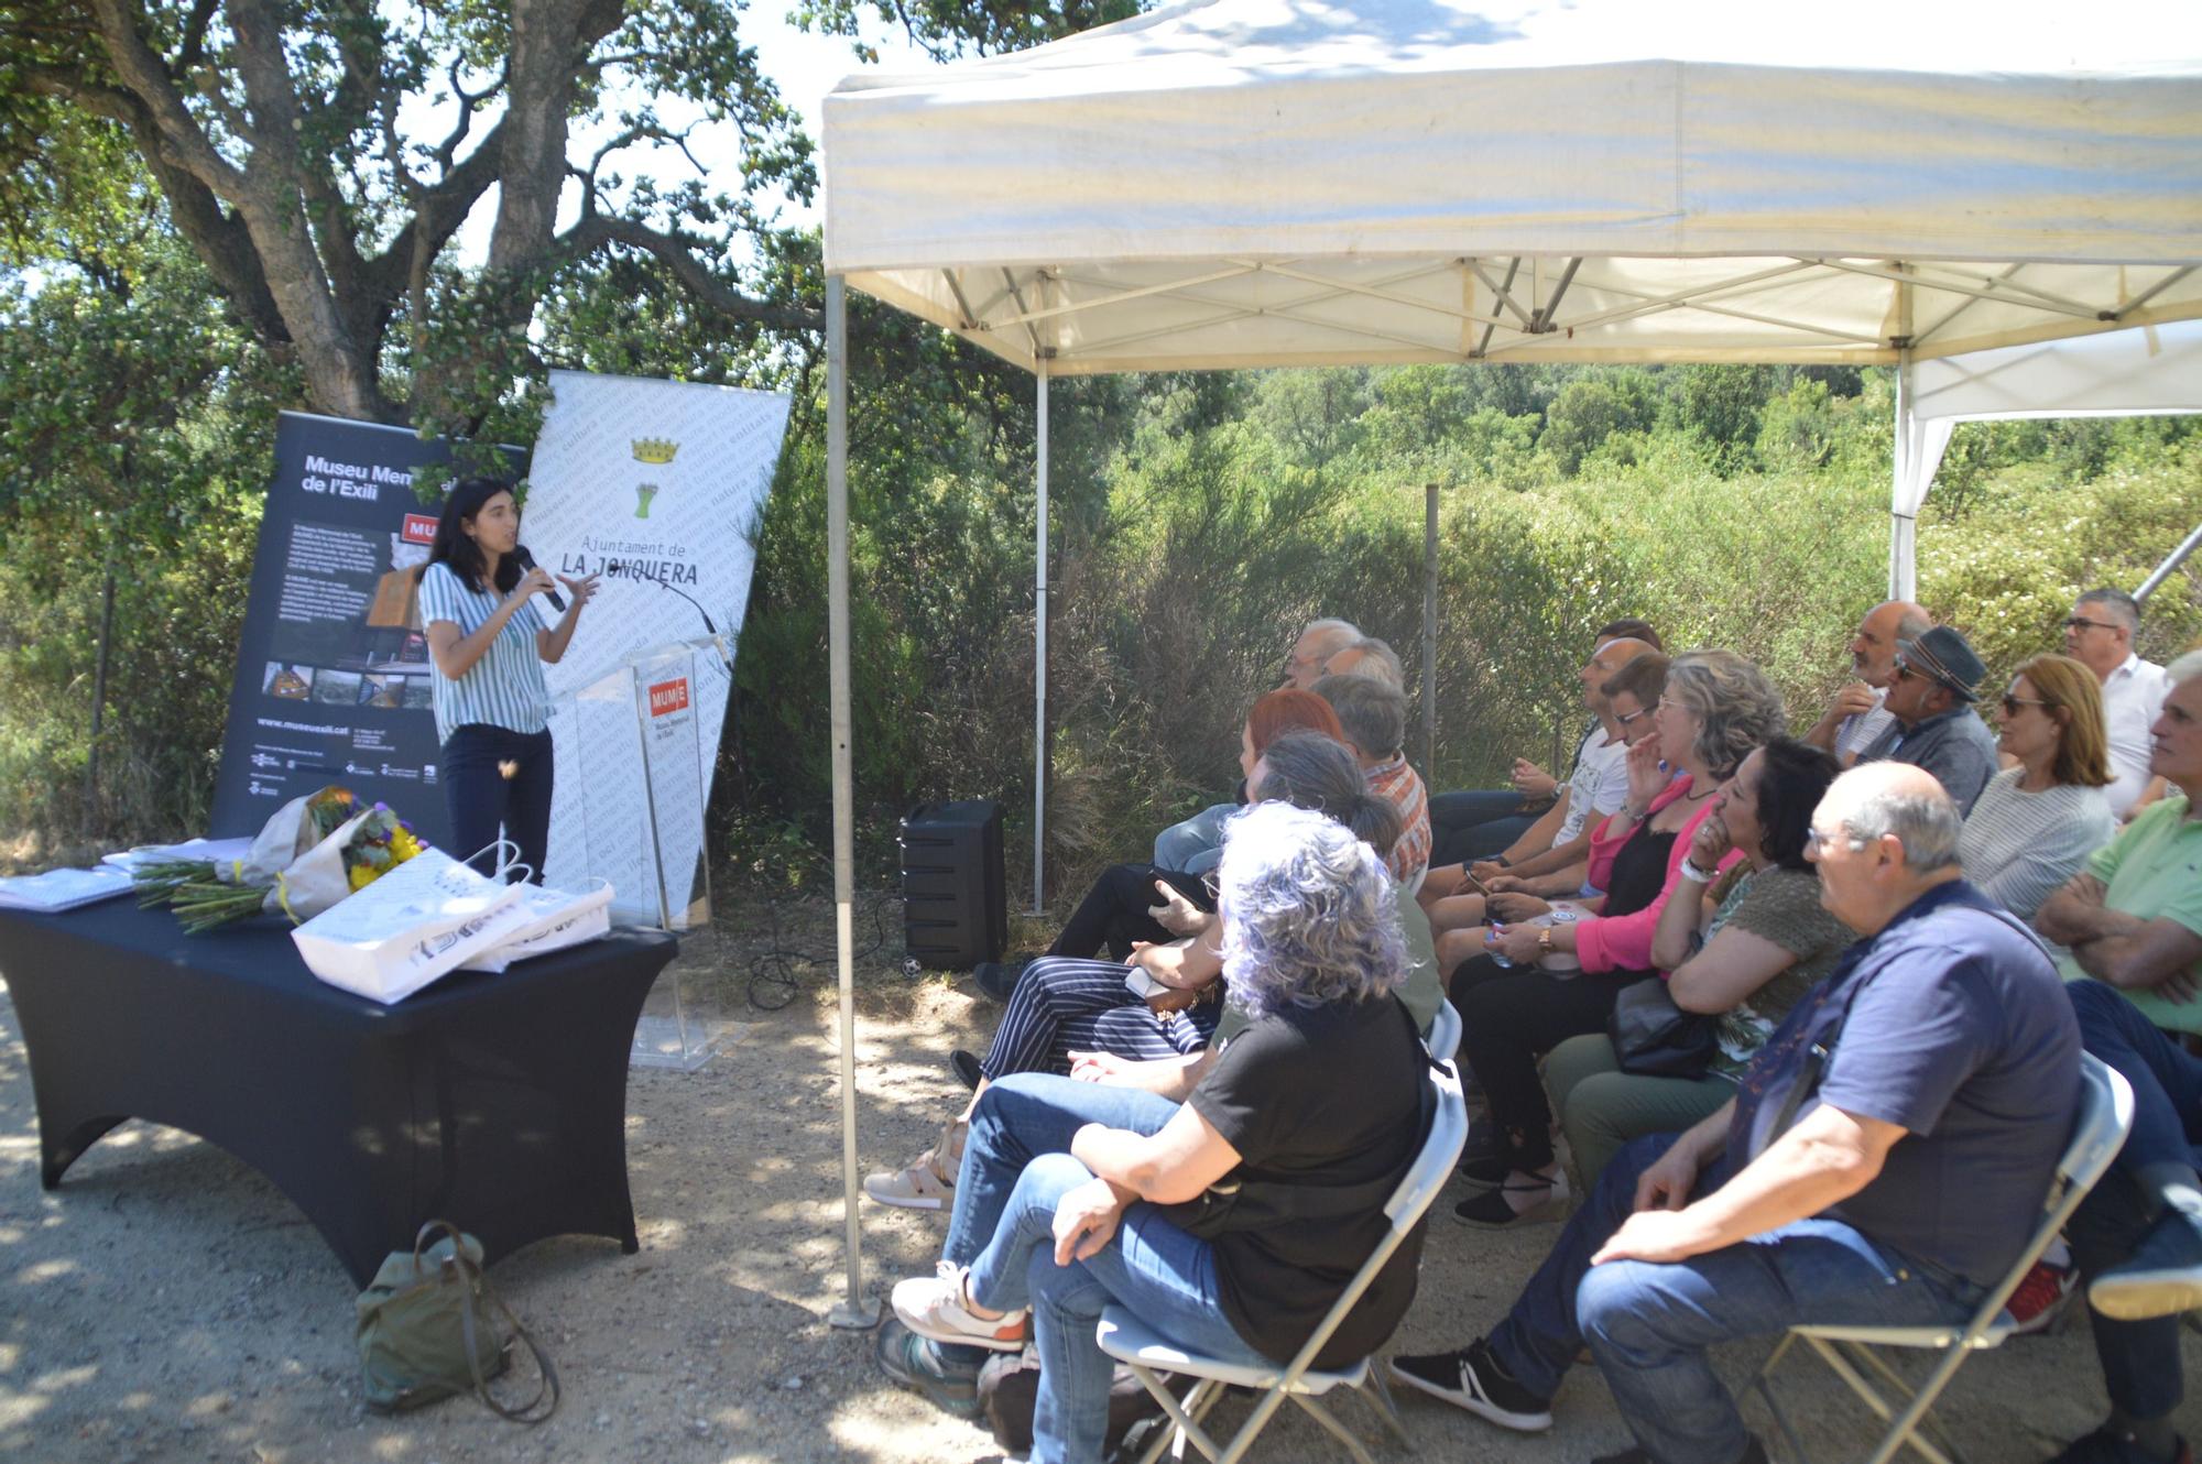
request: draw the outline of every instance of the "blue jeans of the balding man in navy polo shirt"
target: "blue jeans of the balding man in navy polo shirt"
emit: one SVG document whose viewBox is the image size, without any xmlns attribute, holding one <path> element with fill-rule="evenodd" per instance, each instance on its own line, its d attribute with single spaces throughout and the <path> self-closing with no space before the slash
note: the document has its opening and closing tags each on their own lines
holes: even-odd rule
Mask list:
<svg viewBox="0 0 2202 1464">
<path fill-rule="evenodd" d="M 1982 1290 L 1872 1242 L 1839 1220 L 1799 1220 L 1676 1264 L 1590 1257 L 1629 1217 L 1636 1180 L 1674 1143 L 1638 1138 L 1491 1332 L 1500 1365 L 1550 1398 L 1588 1343 L 1636 1442 L 1660 1464 L 1744 1457 L 1751 1435 L 1707 1350 L 1799 1321 L 1929 1325 L 1962 1321 Z M 1718 1189 L 1718 1171 L 1700 1191 Z"/>
</svg>

